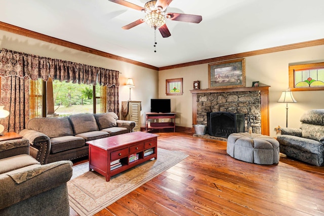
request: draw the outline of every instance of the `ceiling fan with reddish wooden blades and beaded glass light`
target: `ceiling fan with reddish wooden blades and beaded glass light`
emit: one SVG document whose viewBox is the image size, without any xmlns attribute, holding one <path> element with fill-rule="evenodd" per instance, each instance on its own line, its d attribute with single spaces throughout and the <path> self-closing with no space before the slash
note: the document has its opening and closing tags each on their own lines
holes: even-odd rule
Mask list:
<svg viewBox="0 0 324 216">
<path fill-rule="evenodd" d="M 203 19 L 203 17 L 199 15 L 179 14 L 172 12 L 167 13 L 167 8 L 172 2 L 172 0 L 149 1 L 145 3 L 144 8 L 137 6 L 133 3 L 126 2 L 124 0 L 109 1 L 129 8 L 133 8 L 138 11 L 142 11 L 146 14 L 144 18 L 141 18 L 128 25 L 123 26 L 123 29 L 131 29 L 143 22 L 146 22 L 150 27 L 154 28 L 155 30 L 158 29 L 163 37 L 171 36 L 171 33 L 166 24 L 167 19 L 190 23 L 199 23 Z"/>
</svg>

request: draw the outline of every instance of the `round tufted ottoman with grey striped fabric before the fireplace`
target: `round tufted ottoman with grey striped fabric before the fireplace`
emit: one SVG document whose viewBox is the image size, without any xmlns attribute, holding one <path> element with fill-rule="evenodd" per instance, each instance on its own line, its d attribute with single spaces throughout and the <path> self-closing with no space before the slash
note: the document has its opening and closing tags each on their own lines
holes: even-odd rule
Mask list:
<svg viewBox="0 0 324 216">
<path fill-rule="evenodd" d="M 279 143 L 274 138 L 249 133 L 234 133 L 227 139 L 227 154 L 231 157 L 257 164 L 279 162 Z"/>
</svg>

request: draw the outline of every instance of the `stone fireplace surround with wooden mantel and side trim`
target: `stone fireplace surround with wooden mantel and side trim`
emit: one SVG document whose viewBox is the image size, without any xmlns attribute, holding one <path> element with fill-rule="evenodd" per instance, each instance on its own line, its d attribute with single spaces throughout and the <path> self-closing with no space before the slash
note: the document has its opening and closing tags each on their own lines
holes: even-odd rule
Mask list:
<svg viewBox="0 0 324 216">
<path fill-rule="evenodd" d="M 208 125 L 209 112 L 245 115 L 245 132 L 269 135 L 269 87 L 191 90 L 193 124 Z"/>
</svg>

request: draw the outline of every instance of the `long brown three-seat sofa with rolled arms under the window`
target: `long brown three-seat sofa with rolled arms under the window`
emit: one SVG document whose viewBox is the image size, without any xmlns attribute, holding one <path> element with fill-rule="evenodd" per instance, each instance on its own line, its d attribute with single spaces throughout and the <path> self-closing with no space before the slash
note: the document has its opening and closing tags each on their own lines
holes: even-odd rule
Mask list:
<svg viewBox="0 0 324 216">
<path fill-rule="evenodd" d="M 113 112 L 32 118 L 19 134 L 30 143 L 30 155 L 41 164 L 88 156 L 87 141 L 130 133 L 134 121 L 118 120 Z"/>
</svg>

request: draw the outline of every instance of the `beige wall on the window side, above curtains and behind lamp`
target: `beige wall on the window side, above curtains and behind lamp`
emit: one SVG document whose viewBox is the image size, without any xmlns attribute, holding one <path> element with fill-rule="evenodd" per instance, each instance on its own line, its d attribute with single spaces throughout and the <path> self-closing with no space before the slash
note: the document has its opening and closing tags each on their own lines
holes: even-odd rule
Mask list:
<svg viewBox="0 0 324 216">
<path fill-rule="evenodd" d="M 119 75 L 119 101 L 129 100 L 129 88 L 125 84 L 127 78 L 133 78 L 135 88 L 132 89 L 131 98 L 132 100 L 142 101 L 142 125 L 145 123 L 145 111 L 150 110 L 150 99 L 158 97 L 158 72 L 153 69 L 77 51 L 2 30 L 0 30 L 0 48 L 118 70 L 121 73 Z"/>
</svg>

